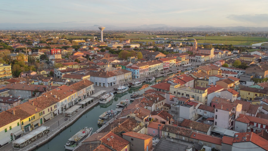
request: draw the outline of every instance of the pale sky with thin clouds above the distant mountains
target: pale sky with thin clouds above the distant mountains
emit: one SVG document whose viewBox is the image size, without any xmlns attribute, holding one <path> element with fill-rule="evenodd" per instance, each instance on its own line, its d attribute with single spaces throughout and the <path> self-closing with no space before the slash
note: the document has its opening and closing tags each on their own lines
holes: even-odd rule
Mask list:
<svg viewBox="0 0 268 151">
<path fill-rule="evenodd" d="M 267 0 L 0 0 L 0 27 L 268 27 Z"/>
</svg>

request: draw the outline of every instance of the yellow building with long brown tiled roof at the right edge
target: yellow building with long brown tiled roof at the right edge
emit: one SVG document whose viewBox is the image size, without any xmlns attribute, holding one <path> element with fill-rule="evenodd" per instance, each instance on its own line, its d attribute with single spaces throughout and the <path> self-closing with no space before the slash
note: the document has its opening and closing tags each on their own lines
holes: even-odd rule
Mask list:
<svg viewBox="0 0 268 151">
<path fill-rule="evenodd" d="M 240 90 L 241 99 L 253 101 L 258 96 L 267 95 L 268 89 L 258 89 L 254 87 L 243 87 Z M 252 104 L 260 104 L 260 101 L 254 101 Z"/>
</svg>

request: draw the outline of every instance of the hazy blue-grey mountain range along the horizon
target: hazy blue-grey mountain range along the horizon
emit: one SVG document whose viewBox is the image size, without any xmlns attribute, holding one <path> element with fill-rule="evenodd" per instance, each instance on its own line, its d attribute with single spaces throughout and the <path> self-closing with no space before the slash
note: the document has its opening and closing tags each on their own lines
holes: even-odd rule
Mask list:
<svg viewBox="0 0 268 151">
<path fill-rule="evenodd" d="M 77 26 L 80 25 L 80 26 Z M 10 24 L 0 23 L 0 30 L 98 30 L 99 25 L 88 26 L 88 24 L 75 23 L 38 23 L 38 24 Z M 133 31 L 268 31 L 268 27 L 213 27 L 213 26 L 197 26 L 197 27 L 174 27 L 166 24 L 149 24 L 132 27 L 119 27 L 114 25 L 104 25 L 105 30 L 133 30 Z"/>
</svg>

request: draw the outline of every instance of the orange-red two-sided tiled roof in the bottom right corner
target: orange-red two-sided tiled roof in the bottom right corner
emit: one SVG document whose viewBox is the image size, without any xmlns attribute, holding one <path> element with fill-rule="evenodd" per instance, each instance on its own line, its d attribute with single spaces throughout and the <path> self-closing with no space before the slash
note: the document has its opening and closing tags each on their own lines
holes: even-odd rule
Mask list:
<svg viewBox="0 0 268 151">
<path fill-rule="evenodd" d="M 268 141 L 254 132 L 236 133 L 237 137 L 234 138 L 233 143 L 240 142 L 252 142 L 253 144 L 261 147 L 264 150 L 268 150 Z M 242 147 L 243 148 L 243 147 Z M 247 149 L 247 148 L 245 148 Z"/>
</svg>

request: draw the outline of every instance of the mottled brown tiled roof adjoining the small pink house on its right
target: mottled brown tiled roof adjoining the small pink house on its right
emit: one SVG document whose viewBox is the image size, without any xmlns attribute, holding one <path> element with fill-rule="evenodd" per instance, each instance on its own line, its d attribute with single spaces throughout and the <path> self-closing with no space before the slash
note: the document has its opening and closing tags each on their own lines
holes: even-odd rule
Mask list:
<svg viewBox="0 0 268 151">
<path fill-rule="evenodd" d="M 172 125 L 168 125 L 168 124 L 165 124 L 165 126 L 162 128 L 162 130 L 166 131 L 166 132 L 171 132 L 171 133 L 176 134 L 176 135 L 186 136 L 186 137 L 190 137 L 191 132 L 192 132 L 192 130 L 182 128 L 182 127 L 172 126 Z"/>
</svg>

